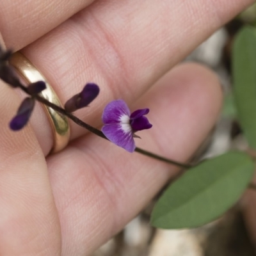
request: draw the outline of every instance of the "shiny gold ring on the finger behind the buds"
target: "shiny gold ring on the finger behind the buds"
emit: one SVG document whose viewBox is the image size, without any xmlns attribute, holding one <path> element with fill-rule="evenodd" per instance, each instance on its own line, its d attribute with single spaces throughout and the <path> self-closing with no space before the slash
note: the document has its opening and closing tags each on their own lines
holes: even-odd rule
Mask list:
<svg viewBox="0 0 256 256">
<path fill-rule="evenodd" d="M 18 74 L 24 79 L 24 81 L 26 81 L 26 83 L 29 84 L 37 81 L 44 81 L 46 89 L 40 93 L 40 96 L 63 108 L 60 99 L 52 89 L 52 86 L 38 71 L 35 65 L 33 65 L 33 63 L 31 63 L 23 54 L 15 52 L 10 58 L 9 63 L 15 68 L 15 70 L 17 70 Z M 56 153 L 65 148 L 68 144 L 68 140 L 70 138 L 68 118 L 45 105 L 44 108 L 51 123 L 54 135 L 54 143 L 51 152 Z"/>
</svg>

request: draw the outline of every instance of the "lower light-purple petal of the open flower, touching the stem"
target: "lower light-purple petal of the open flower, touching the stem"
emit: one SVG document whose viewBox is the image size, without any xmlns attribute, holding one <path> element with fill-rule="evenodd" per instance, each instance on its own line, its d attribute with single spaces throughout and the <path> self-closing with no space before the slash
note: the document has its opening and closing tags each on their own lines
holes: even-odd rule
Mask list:
<svg viewBox="0 0 256 256">
<path fill-rule="evenodd" d="M 134 152 L 135 142 L 132 132 L 124 132 L 120 124 L 104 125 L 102 132 L 115 145 L 124 148 L 128 152 Z"/>
</svg>

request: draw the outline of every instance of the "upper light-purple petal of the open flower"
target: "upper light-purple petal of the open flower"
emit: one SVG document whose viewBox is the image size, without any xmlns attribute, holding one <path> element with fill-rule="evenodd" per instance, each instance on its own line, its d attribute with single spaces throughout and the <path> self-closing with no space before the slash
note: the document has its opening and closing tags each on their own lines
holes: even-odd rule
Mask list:
<svg viewBox="0 0 256 256">
<path fill-rule="evenodd" d="M 104 124 L 118 124 L 124 115 L 131 115 L 127 104 L 124 100 L 113 100 L 104 108 L 102 122 Z"/>
</svg>

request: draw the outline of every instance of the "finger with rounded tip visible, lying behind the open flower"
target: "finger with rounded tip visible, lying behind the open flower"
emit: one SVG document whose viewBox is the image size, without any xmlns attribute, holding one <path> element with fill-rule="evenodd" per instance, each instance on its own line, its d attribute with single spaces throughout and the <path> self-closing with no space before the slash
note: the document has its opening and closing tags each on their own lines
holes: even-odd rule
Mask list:
<svg viewBox="0 0 256 256">
<path fill-rule="evenodd" d="M 133 106 L 150 108 L 153 128 L 138 145 L 186 161 L 211 130 L 221 106 L 216 76 L 204 67 L 174 68 Z M 86 135 L 48 157 L 60 213 L 63 255 L 90 255 L 148 203 L 177 171 Z"/>
</svg>

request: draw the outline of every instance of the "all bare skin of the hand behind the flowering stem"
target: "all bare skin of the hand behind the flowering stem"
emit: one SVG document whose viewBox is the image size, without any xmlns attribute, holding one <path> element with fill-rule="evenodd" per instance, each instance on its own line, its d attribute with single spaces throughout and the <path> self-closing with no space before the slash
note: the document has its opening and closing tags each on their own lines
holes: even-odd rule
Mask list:
<svg viewBox="0 0 256 256">
<path fill-rule="evenodd" d="M 160 3 L 161 2 L 161 3 Z M 186 161 L 221 108 L 218 78 L 180 64 L 252 0 L 0 1 L 3 42 L 21 50 L 65 102 L 93 81 L 100 95 L 76 115 L 102 125 L 104 106 L 150 108 L 138 147 Z M 0 81 L 0 255 L 90 255 L 179 170 L 129 154 L 70 122 L 58 154 L 40 104 L 20 132 L 8 122 L 20 93 Z"/>
</svg>

